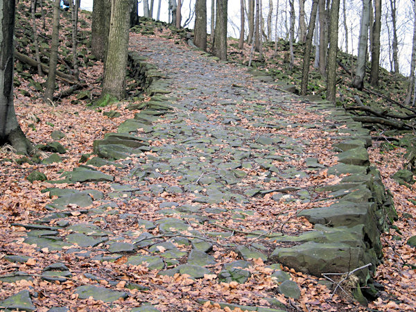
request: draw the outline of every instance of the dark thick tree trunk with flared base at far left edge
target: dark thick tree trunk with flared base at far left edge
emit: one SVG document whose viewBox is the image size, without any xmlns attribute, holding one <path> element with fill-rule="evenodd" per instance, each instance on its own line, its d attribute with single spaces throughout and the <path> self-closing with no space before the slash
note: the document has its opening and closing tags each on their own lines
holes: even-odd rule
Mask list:
<svg viewBox="0 0 416 312">
<path fill-rule="evenodd" d="M 0 0 L 0 145 L 10 144 L 19 154 L 32 150 L 17 122 L 13 104 L 13 35 L 15 0 Z"/>
</svg>

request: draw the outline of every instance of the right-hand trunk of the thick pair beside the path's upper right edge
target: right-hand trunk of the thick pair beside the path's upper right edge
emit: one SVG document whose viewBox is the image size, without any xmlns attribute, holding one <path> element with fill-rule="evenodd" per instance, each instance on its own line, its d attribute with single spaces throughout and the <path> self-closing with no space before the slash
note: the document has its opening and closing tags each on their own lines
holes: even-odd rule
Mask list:
<svg viewBox="0 0 416 312">
<path fill-rule="evenodd" d="M 213 53 L 220 60 L 227 60 L 227 3 L 217 0 Z"/>
</svg>

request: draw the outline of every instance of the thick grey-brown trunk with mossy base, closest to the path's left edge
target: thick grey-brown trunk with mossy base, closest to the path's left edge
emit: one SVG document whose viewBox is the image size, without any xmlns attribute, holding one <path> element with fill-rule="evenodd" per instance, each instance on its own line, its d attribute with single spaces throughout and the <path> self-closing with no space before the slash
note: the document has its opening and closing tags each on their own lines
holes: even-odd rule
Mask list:
<svg viewBox="0 0 416 312">
<path fill-rule="evenodd" d="M 125 95 L 130 0 L 112 0 L 108 51 L 105 60 L 103 94 L 117 99 Z"/>
</svg>

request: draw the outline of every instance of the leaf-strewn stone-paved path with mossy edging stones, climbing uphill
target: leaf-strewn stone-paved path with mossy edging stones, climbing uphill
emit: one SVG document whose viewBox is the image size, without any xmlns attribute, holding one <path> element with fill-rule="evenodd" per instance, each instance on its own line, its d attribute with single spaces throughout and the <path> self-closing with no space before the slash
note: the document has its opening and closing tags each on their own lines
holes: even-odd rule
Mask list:
<svg viewBox="0 0 416 312">
<path fill-rule="evenodd" d="M 302 288 L 280 264 L 319 275 L 379 261 L 374 220 L 390 203 L 361 124 L 171 40 L 132 35 L 130 49 L 150 63 L 150 101 L 55 181 L 47 214 L 15 225 L 31 245 L 5 246 L 2 287 L 19 284 L 1 307 L 92 296 L 103 311 L 278 311 Z M 49 265 L 19 265 L 31 259 Z"/>
</svg>

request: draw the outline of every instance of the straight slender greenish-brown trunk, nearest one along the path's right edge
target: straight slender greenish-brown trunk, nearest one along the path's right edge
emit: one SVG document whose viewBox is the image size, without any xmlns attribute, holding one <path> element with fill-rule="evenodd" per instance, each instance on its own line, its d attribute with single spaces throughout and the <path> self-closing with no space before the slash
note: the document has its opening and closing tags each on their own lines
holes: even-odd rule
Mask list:
<svg viewBox="0 0 416 312">
<path fill-rule="evenodd" d="M 327 100 L 335 103 L 336 99 L 336 53 L 338 51 L 338 20 L 340 0 L 332 0 L 329 20 L 329 49 L 327 64 Z"/>
</svg>

